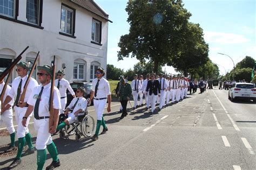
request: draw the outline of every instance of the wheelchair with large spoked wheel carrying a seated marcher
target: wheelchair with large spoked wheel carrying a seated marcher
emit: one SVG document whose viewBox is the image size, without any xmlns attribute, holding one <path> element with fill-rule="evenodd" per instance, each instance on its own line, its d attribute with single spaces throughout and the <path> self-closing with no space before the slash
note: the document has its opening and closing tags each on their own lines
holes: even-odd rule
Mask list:
<svg viewBox="0 0 256 170">
<path fill-rule="evenodd" d="M 70 110 L 72 112 L 72 110 Z M 59 123 L 62 123 L 68 115 L 60 114 Z M 85 138 L 91 137 L 95 132 L 95 120 L 91 115 L 88 115 L 87 108 L 84 112 L 80 112 L 75 119 L 74 123 L 66 125 L 65 128 L 60 130 L 60 138 L 68 138 L 73 134 L 76 135 L 76 141 L 79 141 L 82 136 Z"/>
</svg>

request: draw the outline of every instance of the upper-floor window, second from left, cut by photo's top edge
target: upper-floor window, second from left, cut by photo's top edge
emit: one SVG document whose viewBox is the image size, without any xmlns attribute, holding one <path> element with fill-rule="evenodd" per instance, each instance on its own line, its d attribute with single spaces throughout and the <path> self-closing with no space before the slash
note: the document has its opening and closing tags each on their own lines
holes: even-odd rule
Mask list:
<svg viewBox="0 0 256 170">
<path fill-rule="evenodd" d="M 26 19 L 29 23 L 39 23 L 39 0 L 26 0 Z"/>
</svg>

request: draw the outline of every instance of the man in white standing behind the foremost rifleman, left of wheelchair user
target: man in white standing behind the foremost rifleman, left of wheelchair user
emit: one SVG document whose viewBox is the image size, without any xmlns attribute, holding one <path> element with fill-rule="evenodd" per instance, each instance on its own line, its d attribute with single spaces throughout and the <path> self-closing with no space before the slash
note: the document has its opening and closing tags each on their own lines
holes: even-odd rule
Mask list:
<svg viewBox="0 0 256 170">
<path fill-rule="evenodd" d="M 63 110 L 65 110 L 65 107 L 66 107 L 66 102 L 67 102 L 66 89 L 69 89 L 69 92 L 71 93 L 71 95 L 74 98 L 76 98 L 75 92 L 71 88 L 69 81 L 63 78 L 64 75 L 65 75 L 64 70 L 58 70 L 57 72 L 58 79 L 55 80 L 55 86 L 59 89 L 60 102 L 62 103 L 62 108 L 59 110 L 60 114 L 63 113 Z"/>
</svg>

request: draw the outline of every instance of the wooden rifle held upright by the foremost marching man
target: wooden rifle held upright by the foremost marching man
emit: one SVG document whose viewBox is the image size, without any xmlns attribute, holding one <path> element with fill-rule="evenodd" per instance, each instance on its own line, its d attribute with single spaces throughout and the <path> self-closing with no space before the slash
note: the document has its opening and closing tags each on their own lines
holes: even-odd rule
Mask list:
<svg viewBox="0 0 256 170">
<path fill-rule="evenodd" d="M 53 112 L 53 93 L 54 93 L 54 83 L 55 83 L 55 72 L 56 72 L 56 66 L 55 66 L 55 56 L 53 56 L 53 61 L 51 62 L 52 66 L 52 77 L 51 77 L 51 93 L 50 93 L 50 106 L 49 106 L 49 112 L 50 112 L 50 118 L 49 118 L 49 128 L 54 125 L 55 117 Z"/>
</svg>

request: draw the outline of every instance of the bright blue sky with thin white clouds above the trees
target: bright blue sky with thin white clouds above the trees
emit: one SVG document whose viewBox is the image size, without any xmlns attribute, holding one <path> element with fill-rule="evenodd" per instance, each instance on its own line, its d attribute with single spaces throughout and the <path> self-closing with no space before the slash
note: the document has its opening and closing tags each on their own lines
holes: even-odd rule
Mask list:
<svg viewBox="0 0 256 170">
<path fill-rule="evenodd" d="M 107 63 L 127 70 L 139 62 L 135 58 L 117 61 L 118 42 L 129 33 L 125 11 L 126 0 L 95 0 L 108 14 L 109 23 Z M 198 23 L 204 30 L 204 39 L 209 45 L 209 58 L 219 66 L 224 75 L 246 55 L 256 60 L 256 1 L 255 0 L 183 0 L 184 8 L 192 16 L 190 22 Z M 223 53 L 226 55 L 220 55 Z M 193 64 L 193 63 L 192 63 Z M 167 73 L 176 74 L 173 67 Z"/>
</svg>

